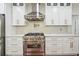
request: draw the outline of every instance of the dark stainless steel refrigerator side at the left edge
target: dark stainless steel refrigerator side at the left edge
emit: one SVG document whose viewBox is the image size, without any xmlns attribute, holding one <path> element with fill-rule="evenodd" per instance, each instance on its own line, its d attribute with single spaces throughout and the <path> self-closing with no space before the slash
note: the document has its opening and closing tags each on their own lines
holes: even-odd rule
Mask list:
<svg viewBox="0 0 79 59">
<path fill-rule="evenodd" d="M 5 53 L 5 15 L 0 15 L 0 55 L 4 55 Z"/>
</svg>

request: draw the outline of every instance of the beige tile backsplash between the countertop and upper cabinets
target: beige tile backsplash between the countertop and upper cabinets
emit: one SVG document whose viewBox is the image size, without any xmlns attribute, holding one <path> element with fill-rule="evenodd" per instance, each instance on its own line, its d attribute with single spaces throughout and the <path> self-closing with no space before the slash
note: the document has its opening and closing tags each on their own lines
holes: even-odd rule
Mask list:
<svg viewBox="0 0 79 59">
<path fill-rule="evenodd" d="M 34 24 L 39 26 L 34 27 Z M 46 34 L 71 34 L 71 26 L 46 26 L 43 21 L 29 22 L 25 27 L 16 27 L 16 34 L 28 32 L 43 32 Z"/>
</svg>

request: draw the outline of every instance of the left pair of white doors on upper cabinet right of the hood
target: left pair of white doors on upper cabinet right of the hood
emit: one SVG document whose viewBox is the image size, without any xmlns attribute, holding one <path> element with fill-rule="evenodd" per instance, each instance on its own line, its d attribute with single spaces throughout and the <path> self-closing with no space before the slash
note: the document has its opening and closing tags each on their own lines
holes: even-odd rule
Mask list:
<svg viewBox="0 0 79 59">
<path fill-rule="evenodd" d="M 58 13 L 58 5 L 54 6 L 50 4 L 47 6 L 46 4 L 46 25 L 58 25 L 59 24 L 59 13 Z"/>
</svg>

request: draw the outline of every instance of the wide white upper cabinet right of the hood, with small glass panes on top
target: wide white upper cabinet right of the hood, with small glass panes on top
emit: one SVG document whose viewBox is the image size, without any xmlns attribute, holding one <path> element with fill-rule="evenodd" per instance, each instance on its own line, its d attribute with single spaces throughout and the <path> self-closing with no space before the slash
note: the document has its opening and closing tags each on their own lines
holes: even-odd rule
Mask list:
<svg viewBox="0 0 79 59">
<path fill-rule="evenodd" d="M 72 4 L 47 3 L 46 25 L 72 25 Z"/>
</svg>

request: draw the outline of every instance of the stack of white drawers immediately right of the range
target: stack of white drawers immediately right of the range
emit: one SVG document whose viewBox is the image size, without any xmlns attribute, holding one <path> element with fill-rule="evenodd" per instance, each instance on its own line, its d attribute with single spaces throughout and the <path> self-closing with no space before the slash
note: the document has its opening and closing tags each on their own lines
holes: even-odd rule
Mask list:
<svg viewBox="0 0 79 59">
<path fill-rule="evenodd" d="M 54 37 L 46 37 L 46 55 L 56 55 L 57 54 L 57 39 Z"/>
</svg>

